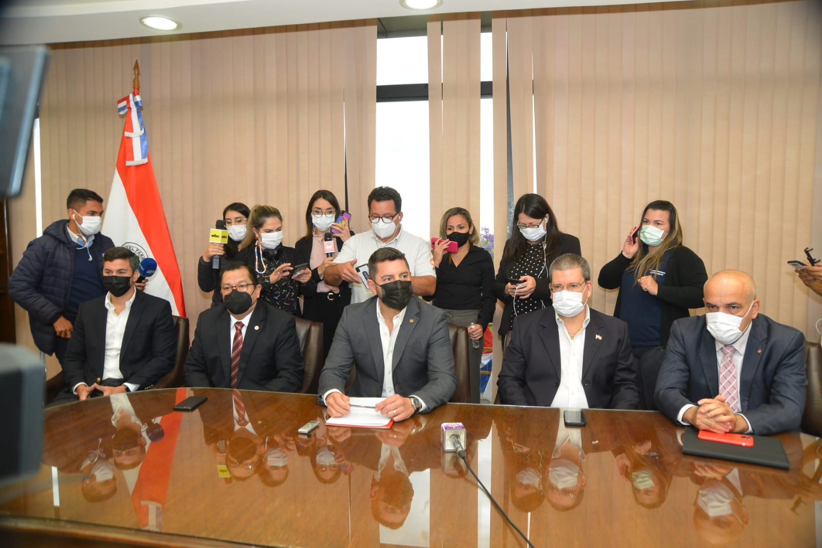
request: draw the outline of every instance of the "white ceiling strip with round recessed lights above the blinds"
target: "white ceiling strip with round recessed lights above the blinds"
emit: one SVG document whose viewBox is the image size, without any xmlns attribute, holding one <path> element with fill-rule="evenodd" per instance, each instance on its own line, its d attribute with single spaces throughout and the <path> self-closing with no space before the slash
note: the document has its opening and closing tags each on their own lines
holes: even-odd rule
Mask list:
<svg viewBox="0 0 822 548">
<path fill-rule="evenodd" d="M 146 15 L 182 23 L 170 34 L 247 29 L 420 13 L 490 12 L 533 7 L 603 6 L 651 0 L 443 0 L 417 12 L 399 0 L 10 0 L 0 19 L 0 44 L 53 44 L 169 34 L 141 25 Z"/>
</svg>

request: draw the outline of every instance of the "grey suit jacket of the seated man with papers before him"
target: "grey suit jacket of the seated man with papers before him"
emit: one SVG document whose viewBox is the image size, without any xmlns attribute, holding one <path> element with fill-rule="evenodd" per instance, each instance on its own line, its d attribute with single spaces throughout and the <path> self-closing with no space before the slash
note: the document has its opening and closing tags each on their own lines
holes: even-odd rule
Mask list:
<svg viewBox="0 0 822 548">
<path fill-rule="evenodd" d="M 356 375 L 349 396 L 377 398 L 382 394 L 385 362 L 376 302 L 377 297 L 371 297 L 345 307 L 320 375 L 320 398 L 330 389 L 345 392 L 352 364 Z M 445 312 L 411 299 L 399 326 L 391 371 L 395 393 L 418 396 L 428 410 L 450 399 L 457 380 Z"/>
</svg>

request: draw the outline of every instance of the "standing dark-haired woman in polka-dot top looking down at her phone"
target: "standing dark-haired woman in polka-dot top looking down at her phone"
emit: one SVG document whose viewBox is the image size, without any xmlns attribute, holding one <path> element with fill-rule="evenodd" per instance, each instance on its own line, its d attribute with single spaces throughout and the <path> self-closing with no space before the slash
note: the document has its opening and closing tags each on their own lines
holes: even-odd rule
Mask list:
<svg viewBox="0 0 822 548">
<path fill-rule="evenodd" d="M 582 255 L 580 239 L 561 233 L 548 202 L 538 194 L 516 200 L 511 237 L 502 251 L 494 293 L 505 304 L 497 332 L 504 336 L 520 314 L 551 305 L 548 266 L 566 253 Z"/>
</svg>

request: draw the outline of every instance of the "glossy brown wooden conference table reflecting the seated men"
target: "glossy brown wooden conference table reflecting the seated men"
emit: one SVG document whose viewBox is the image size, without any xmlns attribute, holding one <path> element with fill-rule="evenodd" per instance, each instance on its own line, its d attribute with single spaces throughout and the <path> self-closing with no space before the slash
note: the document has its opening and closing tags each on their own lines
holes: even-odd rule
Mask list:
<svg viewBox="0 0 822 548">
<path fill-rule="evenodd" d="M 189 394 L 209 399 L 173 412 Z M 452 403 L 386 431 L 321 424 L 303 436 L 324 411 L 313 396 L 122 400 L 46 410 L 39 474 L 0 490 L 5 546 L 524 546 L 441 450 L 446 421 L 464 423 L 469 462 L 534 546 L 820 542 L 822 446 L 810 435 L 778 436 L 792 465 L 781 471 L 684 456 L 681 428 L 657 412 L 590 410 L 569 433 L 557 409 Z M 698 503 L 709 493 L 732 495 L 731 513 L 709 516 Z"/>
</svg>

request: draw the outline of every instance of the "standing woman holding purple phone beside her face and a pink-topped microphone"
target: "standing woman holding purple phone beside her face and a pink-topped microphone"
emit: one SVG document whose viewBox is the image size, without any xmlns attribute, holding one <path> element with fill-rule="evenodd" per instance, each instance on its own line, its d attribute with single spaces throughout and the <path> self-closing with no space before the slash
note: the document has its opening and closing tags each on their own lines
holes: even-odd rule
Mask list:
<svg viewBox="0 0 822 548">
<path fill-rule="evenodd" d="M 308 200 L 306 208 L 306 235 L 294 244 L 297 260 L 308 263 L 312 280 L 316 283 L 316 294 L 302 297 L 302 317 L 322 324 L 322 355 L 328 356 L 331 341 L 337 330 L 343 309 L 351 302 L 351 288 L 348 282 L 339 286 L 328 285 L 324 280 L 326 267 L 334 262 L 343 244 L 353 236 L 347 226 L 336 222 L 342 210 L 339 201 L 331 191 L 320 190 Z M 326 251 L 326 234 L 331 236 L 329 250 Z"/>
</svg>

